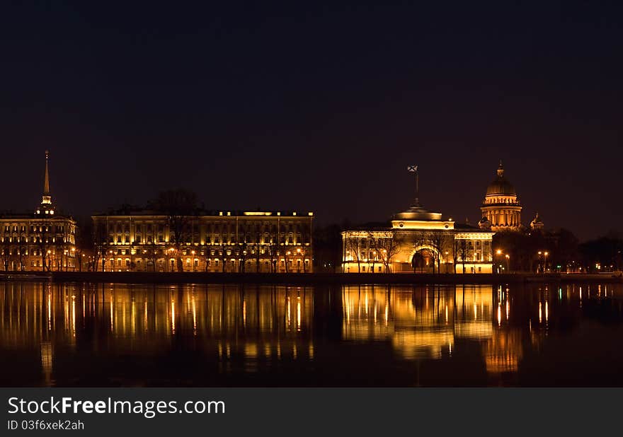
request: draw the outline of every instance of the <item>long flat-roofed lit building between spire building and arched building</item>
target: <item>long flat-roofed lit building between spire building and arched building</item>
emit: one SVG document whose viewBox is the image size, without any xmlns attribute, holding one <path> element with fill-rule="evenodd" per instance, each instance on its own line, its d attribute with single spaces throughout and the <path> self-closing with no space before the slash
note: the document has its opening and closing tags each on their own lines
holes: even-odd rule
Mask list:
<svg viewBox="0 0 623 437">
<path fill-rule="evenodd" d="M 93 216 L 96 269 L 105 272 L 312 270 L 314 214 L 122 209 Z"/>
</svg>

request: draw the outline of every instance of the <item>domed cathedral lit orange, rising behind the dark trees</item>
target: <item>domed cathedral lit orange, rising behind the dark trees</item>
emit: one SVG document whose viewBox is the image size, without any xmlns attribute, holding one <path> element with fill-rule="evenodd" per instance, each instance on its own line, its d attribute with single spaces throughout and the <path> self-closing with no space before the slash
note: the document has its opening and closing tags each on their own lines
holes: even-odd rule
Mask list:
<svg viewBox="0 0 623 437">
<path fill-rule="evenodd" d="M 500 161 L 496 178 L 488 185 L 480 208 L 482 219 L 479 226 L 493 232 L 520 231 L 521 209 L 515 187 L 504 176 L 504 168 Z"/>
</svg>

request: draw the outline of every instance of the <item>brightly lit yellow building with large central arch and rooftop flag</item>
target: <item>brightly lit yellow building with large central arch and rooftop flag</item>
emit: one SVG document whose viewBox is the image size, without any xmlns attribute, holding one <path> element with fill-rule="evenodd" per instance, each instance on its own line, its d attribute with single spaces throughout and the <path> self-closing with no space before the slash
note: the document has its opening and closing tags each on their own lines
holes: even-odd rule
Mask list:
<svg viewBox="0 0 623 437">
<path fill-rule="evenodd" d="M 416 197 L 387 224 L 343 231 L 342 271 L 491 273 L 492 237 L 491 231 L 428 211 Z"/>
</svg>

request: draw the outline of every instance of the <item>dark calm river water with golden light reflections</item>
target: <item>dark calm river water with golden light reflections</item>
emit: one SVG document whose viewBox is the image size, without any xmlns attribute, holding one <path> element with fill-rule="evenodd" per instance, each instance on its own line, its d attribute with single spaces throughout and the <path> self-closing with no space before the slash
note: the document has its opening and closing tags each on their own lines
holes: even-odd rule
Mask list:
<svg viewBox="0 0 623 437">
<path fill-rule="evenodd" d="M 1 386 L 623 386 L 623 286 L 0 284 Z"/>
</svg>

